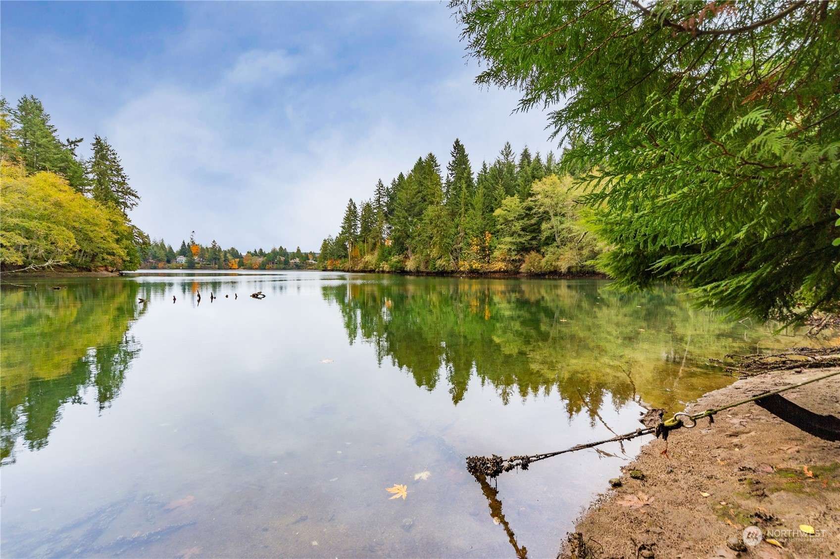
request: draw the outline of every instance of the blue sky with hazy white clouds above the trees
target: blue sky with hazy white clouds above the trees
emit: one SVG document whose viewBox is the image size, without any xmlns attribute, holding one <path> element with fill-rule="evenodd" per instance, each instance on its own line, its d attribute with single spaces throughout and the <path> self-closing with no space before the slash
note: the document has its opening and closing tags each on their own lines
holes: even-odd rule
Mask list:
<svg viewBox="0 0 840 559">
<path fill-rule="evenodd" d="M 139 227 L 240 249 L 318 248 L 454 138 L 473 169 L 505 141 L 556 149 L 517 93 L 480 89 L 445 3 L 0 4 L 0 90 L 62 138 L 108 137 Z"/>
</svg>

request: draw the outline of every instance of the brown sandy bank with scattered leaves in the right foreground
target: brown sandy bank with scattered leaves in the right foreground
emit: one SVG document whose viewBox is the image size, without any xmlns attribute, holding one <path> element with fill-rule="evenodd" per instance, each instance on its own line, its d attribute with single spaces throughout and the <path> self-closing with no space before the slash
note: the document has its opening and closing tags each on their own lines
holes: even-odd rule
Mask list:
<svg viewBox="0 0 840 559">
<path fill-rule="evenodd" d="M 758 374 L 713 390 L 697 413 L 840 368 Z M 840 415 L 840 376 L 785 393 L 820 415 Z M 631 476 L 633 472 L 633 476 Z M 639 474 L 641 473 L 641 474 Z M 825 441 L 755 405 L 645 444 L 619 486 L 598 496 L 559 556 L 818 557 L 840 549 L 840 441 Z M 809 535 L 800 526 L 810 526 Z M 755 546 L 743 530 L 764 534 Z M 769 543 L 768 538 L 779 546 Z"/>
</svg>

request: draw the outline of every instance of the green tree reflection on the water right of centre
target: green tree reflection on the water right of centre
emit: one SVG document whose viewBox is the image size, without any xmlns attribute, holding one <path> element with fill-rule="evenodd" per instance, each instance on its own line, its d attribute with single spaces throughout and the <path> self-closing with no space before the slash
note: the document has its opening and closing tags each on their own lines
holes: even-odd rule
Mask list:
<svg viewBox="0 0 840 559">
<path fill-rule="evenodd" d="M 692 308 L 674 288 L 626 295 L 598 281 L 393 278 L 323 287 L 349 342 L 363 340 L 409 371 L 417 386 L 442 380 L 454 404 L 470 377 L 505 403 L 559 393 L 570 415 L 597 421 L 607 400 L 641 398 L 669 409 L 727 379 L 710 357 L 790 344 L 769 331 Z"/>
</svg>

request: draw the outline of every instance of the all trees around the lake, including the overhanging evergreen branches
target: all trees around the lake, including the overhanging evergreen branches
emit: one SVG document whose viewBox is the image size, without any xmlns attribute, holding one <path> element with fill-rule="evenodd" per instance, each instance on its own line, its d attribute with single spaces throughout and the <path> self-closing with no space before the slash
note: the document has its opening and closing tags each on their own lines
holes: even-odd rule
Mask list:
<svg viewBox="0 0 840 559">
<path fill-rule="evenodd" d="M 455 140 L 445 173 L 427 154 L 350 200 L 317 252 L 193 242 L 176 259 L 598 271 L 627 290 L 680 282 L 701 305 L 761 321 L 840 311 L 837 4 L 503 6 L 449 3 L 483 68 L 476 83 L 518 91 L 519 111 L 547 110 L 559 155 L 506 144 L 475 172 Z M 2 113 L 4 270 L 178 264 L 131 223 L 139 196 L 106 138 L 84 159 L 82 139 L 61 141 L 34 97 Z"/>
</svg>

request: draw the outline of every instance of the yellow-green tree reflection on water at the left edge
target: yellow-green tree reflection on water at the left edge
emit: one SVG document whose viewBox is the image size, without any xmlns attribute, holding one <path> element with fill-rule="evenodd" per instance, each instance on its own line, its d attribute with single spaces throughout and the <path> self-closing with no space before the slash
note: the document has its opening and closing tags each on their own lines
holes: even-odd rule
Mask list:
<svg viewBox="0 0 840 559">
<path fill-rule="evenodd" d="M 124 280 L 3 289 L 0 463 L 14 462 L 19 440 L 45 447 L 62 406 L 86 403 L 88 390 L 99 410 L 117 398 L 139 353 L 129 335 L 143 312 L 138 289 Z"/>
</svg>

